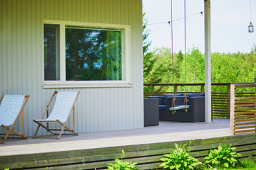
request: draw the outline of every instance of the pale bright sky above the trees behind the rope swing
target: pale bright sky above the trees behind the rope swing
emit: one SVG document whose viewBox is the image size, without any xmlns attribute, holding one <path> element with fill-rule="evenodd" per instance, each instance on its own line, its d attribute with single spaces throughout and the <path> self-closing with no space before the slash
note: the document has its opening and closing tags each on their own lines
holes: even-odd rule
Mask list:
<svg viewBox="0 0 256 170">
<path fill-rule="evenodd" d="M 143 0 L 151 49 L 171 47 L 170 4 L 171 0 Z M 201 11 L 204 11 L 203 0 L 186 0 L 186 16 L 189 16 L 186 18 L 186 51 L 198 47 L 204 53 L 204 16 Z M 174 52 L 185 50 L 183 17 L 184 1 L 173 0 Z M 211 0 L 210 18 L 211 52 L 250 52 L 256 45 L 256 31 L 248 33 L 250 21 L 256 29 L 256 0 Z"/>
</svg>

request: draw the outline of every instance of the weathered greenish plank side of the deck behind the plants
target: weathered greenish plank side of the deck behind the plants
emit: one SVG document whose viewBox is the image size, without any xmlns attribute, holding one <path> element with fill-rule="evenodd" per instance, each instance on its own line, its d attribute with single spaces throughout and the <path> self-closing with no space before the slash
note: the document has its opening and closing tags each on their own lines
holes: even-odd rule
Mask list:
<svg viewBox="0 0 256 170">
<path fill-rule="evenodd" d="M 245 131 L 238 130 L 238 132 Z M 223 140 L 224 137 L 194 140 L 190 154 L 197 159 L 206 157 L 209 149 L 218 148 Z M 256 152 L 255 141 L 254 133 L 231 135 L 225 137 L 224 144 L 232 144 L 236 147 L 235 152 L 240 152 L 243 157 L 250 157 Z M 0 169 L 7 167 L 10 169 L 47 169 L 46 167 L 48 169 L 106 169 L 107 163 L 113 163 L 114 158 L 121 157 L 122 149 L 125 152 L 124 161 L 137 162 L 139 169 L 158 169 L 161 164 L 159 159 L 164 154 L 173 152 L 175 143 L 184 145 L 188 143 L 188 140 L 4 156 L 0 157 Z M 256 159 L 256 157 L 251 158 Z"/>
</svg>

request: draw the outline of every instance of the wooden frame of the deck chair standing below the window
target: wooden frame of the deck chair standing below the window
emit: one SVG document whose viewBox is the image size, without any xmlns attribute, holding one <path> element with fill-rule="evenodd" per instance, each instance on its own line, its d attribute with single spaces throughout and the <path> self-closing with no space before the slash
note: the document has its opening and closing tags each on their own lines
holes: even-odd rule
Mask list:
<svg viewBox="0 0 256 170">
<path fill-rule="evenodd" d="M 36 128 L 36 132 L 35 132 L 35 134 L 34 134 L 34 136 L 33 136 L 33 139 L 36 138 L 36 134 L 37 134 L 37 132 L 38 132 L 40 126 L 41 126 L 42 128 L 45 128 L 45 129 L 47 130 L 47 132 L 50 132 L 50 133 L 53 134 L 53 135 L 58 135 L 58 137 L 57 137 L 58 140 L 60 139 L 60 136 L 61 136 L 61 135 L 70 135 L 70 134 L 63 134 L 63 131 L 69 131 L 69 132 L 72 132 L 73 135 L 78 135 L 78 133 L 75 132 L 75 102 L 76 102 L 77 99 L 78 99 L 79 93 L 80 93 L 80 91 L 78 91 L 78 94 L 77 94 L 77 96 L 76 96 L 76 98 L 75 98 L 75 101 L 74 101 L 74 103 L 73 103 L 72 109 L 70 110 L 70 113 L 69 113 L 67 119 L 65 120 L 65 123 L 60 122 L 60 120 L 58 120 L 58 119 L 57 119 L 56 121 L 36 121 L 36 120 L 33 120 L 35 123 L 38 124 L 38 128 Z M 46 111 L 43 113 L 43 118 L 45 118 L 45 116 L 46 116 L 46 118 L 48 118 L 48 113 L 49 113 L 48 111 L 49 111 L 49 108 L 50 108 L 50 103 L 53 101 L 53 98 L 54 98 L 54 96 L 55 96 L 56 94 L 58 94 L 58 91 L 54 91 L 53 96 L 50 98 L 50 102 L 48 103 L 48 106 L 47 106 L 47 108 L 46 108 Z M 73 130 L 70 129 L 70 128 L 68 128 L 68 126 L 66 126 L 66 124 L 68 123 L 68 119 L 69 119 L 69 117 L 70 117 L 71 112 L 73 112 Z M 43 119 L 43 118 L 42 118 L 42 119 Z M 47 125 L 43 125 L 43 122 L 46 122 Z M 48 123 L 60 123 L 60 125 L 62 125 L 63 128 L 61 128 L 61 129 L 50 129 Z M 60 131 L 60 133 L 54 133 L 54 132 L 52 132 L 52 131 Z M 71 134 L 71 135 L 72 135 L 72 134 Z M 38 138 L 39 138 L 39 137 L 38 137 Z"/>
</svg>

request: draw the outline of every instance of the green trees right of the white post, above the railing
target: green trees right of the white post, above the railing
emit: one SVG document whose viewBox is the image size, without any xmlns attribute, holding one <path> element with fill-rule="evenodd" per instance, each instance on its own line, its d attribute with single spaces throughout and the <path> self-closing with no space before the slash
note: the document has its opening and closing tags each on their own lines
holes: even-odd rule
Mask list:
<svg viewBox="0 0 256 170">
<path fill-rule="evenodd" d="M 212 82 L 215 83 L 250 83 L 255 77 L 256 49 L 247 53 L 220 54 L 214 52 L 211 55 Z M 224 86 L 214 86 L 213 91 L 225 92 Z M 238 89 L 237 92 L 253 92 L 252 89 Z"/>
</svg>

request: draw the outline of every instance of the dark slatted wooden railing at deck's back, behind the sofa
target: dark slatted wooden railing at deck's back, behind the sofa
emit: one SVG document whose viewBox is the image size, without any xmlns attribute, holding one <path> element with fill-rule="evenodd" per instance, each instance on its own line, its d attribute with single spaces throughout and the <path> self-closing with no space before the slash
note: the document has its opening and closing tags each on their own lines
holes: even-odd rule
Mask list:
<svg viewBox="0 0 256 170">
<path fill-rule="evenodd" d="M 194 91 L 186 91 L 186 95 L 189 93 L 203 93 L 205 89 L 205 84 L 186 84 L 186 86 L 196 87 Z M 230 118 L 230 83 L 212 83 L 211 86 L 213 117 Z M 173 84 L 144 84 L 144 98 L 148 96 L 164 96 L 165 94 L 173 93 L 185 94 L 184 87 L 185 84 L 174 84 L 174 86 Z M 165 90 L 168 88 L 171 89 L 171 91 Z"/>
</svg>

